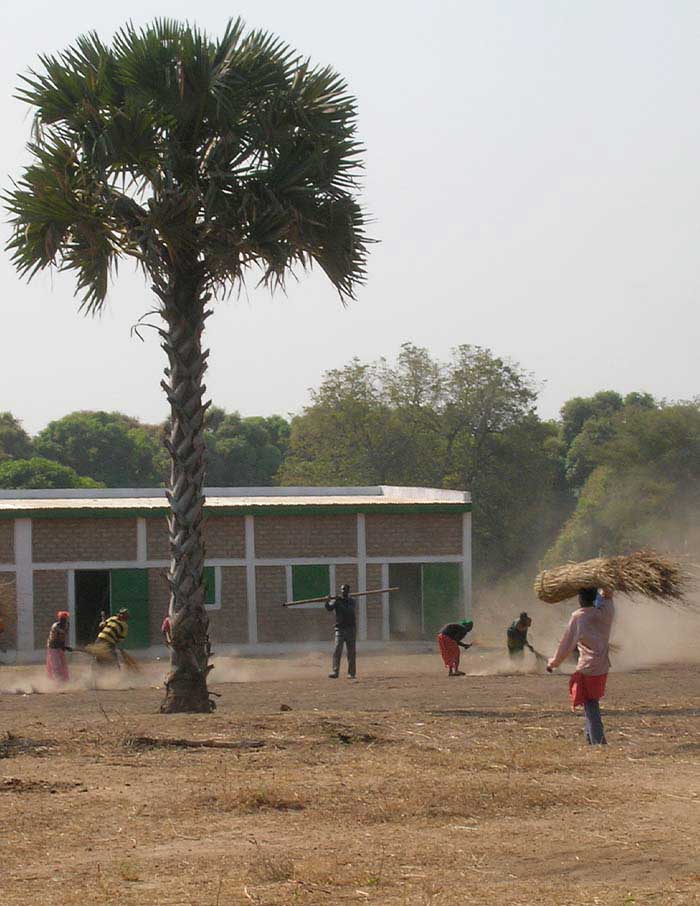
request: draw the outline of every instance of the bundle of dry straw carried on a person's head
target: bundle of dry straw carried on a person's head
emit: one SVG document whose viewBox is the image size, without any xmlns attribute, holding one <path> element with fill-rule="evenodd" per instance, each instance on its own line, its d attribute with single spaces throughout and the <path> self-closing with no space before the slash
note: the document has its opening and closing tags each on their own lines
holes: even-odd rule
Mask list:
<svg viewBox="0 0 700 906">
<path fill-rule="evenodd" d="M 678 560 L 642 550 L 626 557 L 597 557 L 547 569 L 535 579 L 535 594 L 541 601 L 556 604 L 576 597 L 582 588 L 608 588 L 656 601 L 679 601 L 688 582 Z"/>
</svg>

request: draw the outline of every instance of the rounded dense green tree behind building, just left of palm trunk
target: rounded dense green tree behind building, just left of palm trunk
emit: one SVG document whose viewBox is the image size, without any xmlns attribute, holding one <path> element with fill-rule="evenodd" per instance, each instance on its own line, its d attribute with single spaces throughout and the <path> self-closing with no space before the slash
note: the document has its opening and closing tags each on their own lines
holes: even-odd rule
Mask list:
<svg viewBox="0 0 700 906">
<path fill-rule="evenodd" d="M 121 412 L 72 412 L 40 431 L 34 449 L 104 487 L 152 488 L 166 478 L 158 433 Z"/>
</svg>

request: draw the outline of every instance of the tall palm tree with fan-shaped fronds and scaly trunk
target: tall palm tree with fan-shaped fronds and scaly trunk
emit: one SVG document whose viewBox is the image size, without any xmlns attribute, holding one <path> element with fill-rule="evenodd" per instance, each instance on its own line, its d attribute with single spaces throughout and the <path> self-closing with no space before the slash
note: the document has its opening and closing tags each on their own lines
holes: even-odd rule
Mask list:
<svg viewBox="0 0 700 906">
<path fill-rule="evenodd" d="M 188 24 L 95 34 L 23 77 L 34 109 L 30 165 L 5 195 L 15 267 L 76 273 L 88 314 L 119 259 L 143 269 L 162 318 L 171 409 L 171 670 L 161 710 L 206 712 L 202 334 L 209 303 L 249 268 L 271 289 L 319 265 L 344 303 L 364 281 L 356 198 L 356 103 L 328 67 L 229 23 L 214 41 Z"/>
</svg>

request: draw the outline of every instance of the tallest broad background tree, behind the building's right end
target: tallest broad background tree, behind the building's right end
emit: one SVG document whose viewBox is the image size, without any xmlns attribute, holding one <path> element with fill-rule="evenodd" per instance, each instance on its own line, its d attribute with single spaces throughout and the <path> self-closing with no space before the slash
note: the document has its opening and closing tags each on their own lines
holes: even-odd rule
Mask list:
<svg viewBox="0 0 700 906">
<path fill-rule="evenodd" d="M 570 512 L 558 429 L 534 412 L 528 375 L 489 350 L 448 362 L 405 344 L 395 364 L 325 375 L 292 422 L 283 484 L 466 488 L 483 578 L 544 552 Z M 536 526 L 536 531 L 533 529 Z"/>
</svg>

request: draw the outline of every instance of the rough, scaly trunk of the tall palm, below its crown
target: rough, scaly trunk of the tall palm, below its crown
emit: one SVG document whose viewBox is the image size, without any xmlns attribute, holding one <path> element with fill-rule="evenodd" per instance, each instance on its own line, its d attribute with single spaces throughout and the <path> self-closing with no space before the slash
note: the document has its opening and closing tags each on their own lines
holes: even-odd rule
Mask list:
<svg viewBox="0 0 700 906">
<path fill-rule="evenodd" d="M 206 387 L 202 377 L 208 351 L 202 352 L 202 332 L 207 317 L 197 276 L 174 276 L 160 291 L 161 329 L 169 367 L 162 387 L 171 412 L 170 487 L 170 619 L 172 652 L 166 694 L 160 710 L 167 713 L 208 713 L 214 708 L 207 689 L 209 619 L 204 609 L 205 447 L 202 403 Z"/>
</svg>

